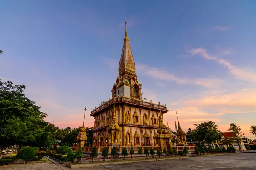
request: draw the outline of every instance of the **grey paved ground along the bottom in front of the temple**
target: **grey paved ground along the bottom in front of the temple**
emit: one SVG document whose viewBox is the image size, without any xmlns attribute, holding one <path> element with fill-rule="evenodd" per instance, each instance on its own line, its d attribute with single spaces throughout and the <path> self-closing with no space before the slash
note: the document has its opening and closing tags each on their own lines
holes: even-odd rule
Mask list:
<svg viewBox="0 0 256 170">
<path fill-rule="evenodd" d="M 55 163 L 58 164 L 58 163 Z M 70 170 L 54 163 L 11 164 L 2 170 Z M 61 168 L 60 168 L 61 167 Z M 115 164 L 78 170 L 256 170 L 256 153 L 239 153 L 223 156 L 191 157 L 165 161 Z"/>
</svg>

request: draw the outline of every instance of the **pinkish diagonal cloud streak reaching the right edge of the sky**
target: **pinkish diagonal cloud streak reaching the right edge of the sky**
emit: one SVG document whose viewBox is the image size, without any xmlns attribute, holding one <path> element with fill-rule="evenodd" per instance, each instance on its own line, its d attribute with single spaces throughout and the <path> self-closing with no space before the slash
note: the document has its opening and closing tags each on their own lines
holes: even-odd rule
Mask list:
<svg viewBox="0 0 256 170">
<path fill-rule="evenodd" d="M 235 75 L 239 79 L 243 79 L 249 82 L 256 82 L 256 73 L 246 71 L 242 68 L 236 68 L 234 65 L 230 64 L 230 62 L 210 55 L 204 48 L 192 48 L 191 50 L 187 50 L 187 52 L 192 55 L 199 55 L 205 59 L 214 60 L 215 62 L 224 65 L 228 68 L 231 74 Z"/>
</svg>

